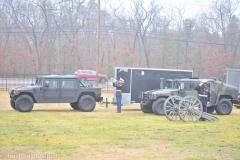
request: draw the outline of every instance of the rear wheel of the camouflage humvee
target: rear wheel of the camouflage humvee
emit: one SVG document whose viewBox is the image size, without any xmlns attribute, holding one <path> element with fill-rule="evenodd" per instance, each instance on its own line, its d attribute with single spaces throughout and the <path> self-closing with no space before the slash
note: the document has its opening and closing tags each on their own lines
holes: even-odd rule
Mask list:
<svg viewBox="0 0 240 160">
<path fill-rule="evenodd" d="M 216 112 L 218 115 L 229 115 L 232 112 L 232 102 L 226 98 L 220 99 L 216 107 Z"/>
</svg>

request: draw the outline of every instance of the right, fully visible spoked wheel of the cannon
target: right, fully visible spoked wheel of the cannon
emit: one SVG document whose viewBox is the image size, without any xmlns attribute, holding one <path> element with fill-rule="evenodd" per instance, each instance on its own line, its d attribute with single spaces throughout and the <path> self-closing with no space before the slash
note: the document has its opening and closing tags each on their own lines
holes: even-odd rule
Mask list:
<svg viewBox="0 0 240 160">
<path fill-rule="evenodd" d="M 178 106 L 178 114 L 184 122 L 197 122 L 202 116 L 203 106 L 197 97 L 186 96 Z"/>
</svg>

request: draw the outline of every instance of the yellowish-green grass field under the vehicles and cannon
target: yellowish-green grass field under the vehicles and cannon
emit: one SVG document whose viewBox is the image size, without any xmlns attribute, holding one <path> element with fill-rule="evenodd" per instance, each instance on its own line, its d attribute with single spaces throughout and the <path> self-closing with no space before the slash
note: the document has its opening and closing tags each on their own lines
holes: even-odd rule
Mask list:
<svg viewBox="0 0 240 160">
<path fill-rule="evenodd" d="M 35 104 L 21 113 L 0 91 L 0 159 L 240 160 L 238 108 L 197 123 L 144 114 L 135 104 L 122 108 L 117 114 L 115 105 L 97 104 L 85 113 L 69 104 Z"/>
</svg>

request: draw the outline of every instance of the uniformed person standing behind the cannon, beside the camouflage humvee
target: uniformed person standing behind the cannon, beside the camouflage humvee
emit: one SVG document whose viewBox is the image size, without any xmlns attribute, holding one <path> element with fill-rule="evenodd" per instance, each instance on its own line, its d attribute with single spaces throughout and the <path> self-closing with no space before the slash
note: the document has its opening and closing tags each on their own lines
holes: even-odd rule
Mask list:
<svg viewBox="0 0 240 160">
<path fill-rule="evenodd" d="M 195 89 L 198 91 L 198 98 L 202 103 L 203 106 L 203 112 L 207 112 L 207 103 L 210 99 L 210 90 L 207 87 L 206 83 L 200 83 L 199 86 L 195 87 Z M 200 121 L 205 121 L 206 119 L 201 117 L 199 119 Z"/>
</svg>

